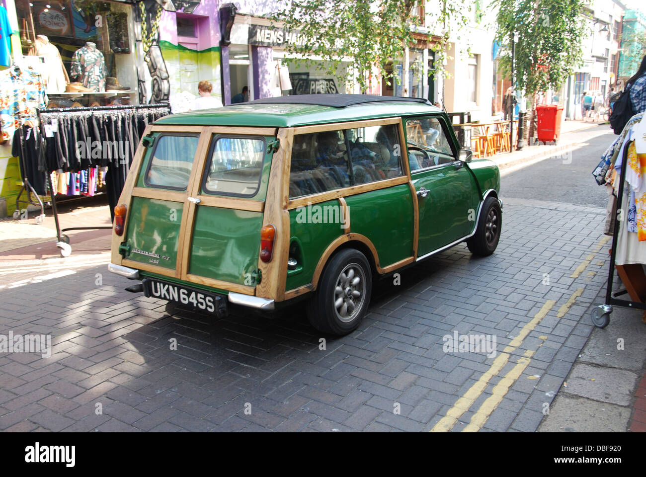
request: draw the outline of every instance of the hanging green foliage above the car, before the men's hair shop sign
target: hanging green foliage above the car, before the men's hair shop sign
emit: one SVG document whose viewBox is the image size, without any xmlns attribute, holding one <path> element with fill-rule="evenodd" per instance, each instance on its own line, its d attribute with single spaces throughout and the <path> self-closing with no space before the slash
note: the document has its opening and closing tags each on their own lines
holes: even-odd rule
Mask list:
<svg viewBox="0 0 646 477">
<path fill-rule="evenodd" d="M 415 0 L 292 0 L 281 12 L 272 16 L 291 30 L 300 30 L 302 46 L 288 45 L 287 50 L 303 55 L 303 59 L 286 59 L 315 67 L 331 76 L 342 76 L 349 83 L 359 83 L 365 92 L 375 76 L 386 81 L 399 81 L 393 63 L 402 62 L 406 47 L 415 47 L 413 32 L 423 23 Z M 448 19 L 463 25 L 468 21 L 460 0 L 426 2 L 432 8 L 433 28 L 441 30 Z M 435 19 L 439 20 L 437 23 Z M 447 32 L 439 36 L 434 50 L 444 50 Z M 313 61 L 311 57 L 324 61 Z M 309 58 L 308 58 L 309 57 Z M 346 59 L 346 61 L 342 61 Z M 439 69 L 441 69 L 441 61 Z"/>
</svg>

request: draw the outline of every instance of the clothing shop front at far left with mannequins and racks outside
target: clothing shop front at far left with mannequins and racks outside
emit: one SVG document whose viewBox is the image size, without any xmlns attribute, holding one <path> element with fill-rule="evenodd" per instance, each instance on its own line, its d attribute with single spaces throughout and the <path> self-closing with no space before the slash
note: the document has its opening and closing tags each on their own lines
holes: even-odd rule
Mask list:
<svg viewBox="0 0 646 477">
<path fill-rule="evenodd" d="M 163 65 L 161 6 L 154 0 L 1 1 L 10 30 L 3 36 L 11 41 L 7 64 L 0 65 L 0 209 L 11 215 L 23 207 L 17 199 L 36 202 L 36 195 L 53 200 L 107 191 L 113 202 L 133 142 L 147 123 L 169 113 L 167 103 L 157 105 L 169 99 L 169 75 L 151 68 Z M 49 149 L 47 161 L 36 164 L 38 134 Z M 91 147 L 94 141 L 103 148 Z"/>
</svg>

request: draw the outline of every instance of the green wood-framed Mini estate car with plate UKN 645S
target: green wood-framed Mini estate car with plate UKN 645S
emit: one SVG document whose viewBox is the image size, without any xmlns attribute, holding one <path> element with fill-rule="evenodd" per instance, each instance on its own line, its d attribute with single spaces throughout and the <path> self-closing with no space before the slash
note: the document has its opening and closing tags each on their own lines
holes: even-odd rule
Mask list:
<svg viewBox="0 0 646 477">
<path fill-rule="evenodd" d="M 303 301 L 321 332 L 355 330 L 373 277 L 461 242 L 494 252 L 500 174 L 459 149 L 419 98 L 311 94 L 149 125 L 121 193 L 110 271 L 223 316 Z"/>
</svg>

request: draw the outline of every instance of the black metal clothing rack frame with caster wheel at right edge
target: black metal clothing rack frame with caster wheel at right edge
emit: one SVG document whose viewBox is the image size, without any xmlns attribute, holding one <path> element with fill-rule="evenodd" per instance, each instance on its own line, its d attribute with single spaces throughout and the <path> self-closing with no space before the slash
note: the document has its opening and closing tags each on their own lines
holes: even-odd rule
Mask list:
<svg viewBox="0 0 646 477">
<path fill-rule="evenodd" d="M 631 140 L 630 142 L 626 143 L 625 147 L 623 148 L 623 155 L 621 159 L 621 171 L 620 171 L 620 175 L 616 179 L 620 181 L 619 191 L 617 194 L 618 195 L 617 210 L 621 210 L 621 202 L 623 201 L 623 187 L 624 187 L 625 176 L 626 176 L 626 167 L 628 163 L 628 148 L 630 143 L 632 142 L 634 141 Z M 612 313 L 613 305 L 627 306 L 628 308 L 637 308 L 638 310 L 646 311 L 646 302 L 643 301 L 643 299 L 646 299 L 646 288 L 641 286 L 637 286 L 637 287 L 633 286 L 633 284 L 629 280 L 629 277 L 627 277 L 625 273 L 620 273 L 620 274 L 624 275 L 623 277 L 624 279 L 628 279 L 628 280 L 625 280 L 627 282 L 624 282 L 625 286 L 627 286 L 627 289 L 615 291 L 614 293 L 612 292 L 612 284 L 614 281 L 614 271 L 615 271 L 615 261 L 617 257 L 617 241 L 619 236 L 619 227 L 620 227 L 620 220 L 615 220 L 613 234 L 612 234 L 612 249 L 610 249 L 610 265 L 608 268 L 608 284 L 606 288 L 605 303 L 599 306 L 596 306 L 595 308 L 592 309 L 592 312 L 591 312 L 592 323 L 594 323 L 594 325 L 598 326 L 599 328 L 605 328 L 610 323 L 610 313 Z M 630 290 L 628 290 L 628 288 L 630 288 Z M 626 299 L 617 298 L 621 295 L 625 295 L 626 293 L 629 293 L 631 295 L 631 298 L 633 299 L 626 300 Z M 642 294 L 643 294 L 643 297 L 640 296 Z"/>
</svg>

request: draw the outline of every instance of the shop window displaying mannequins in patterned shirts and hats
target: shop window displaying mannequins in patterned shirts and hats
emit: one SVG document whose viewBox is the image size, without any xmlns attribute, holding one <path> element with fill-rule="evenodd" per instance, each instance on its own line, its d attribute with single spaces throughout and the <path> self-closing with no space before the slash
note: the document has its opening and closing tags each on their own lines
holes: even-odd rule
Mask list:
<svg viewBox="0 0 646 477">
<path fill-rule="evenodd" d="M 132 6 L 96 0 L 16 0 L 16 14 L 22 53 L 43 58 L 42 67 L 37 61 L 28 64 L 43 76 L 50 107 L 128 104 L 134 99 Z"/>
</svg>

